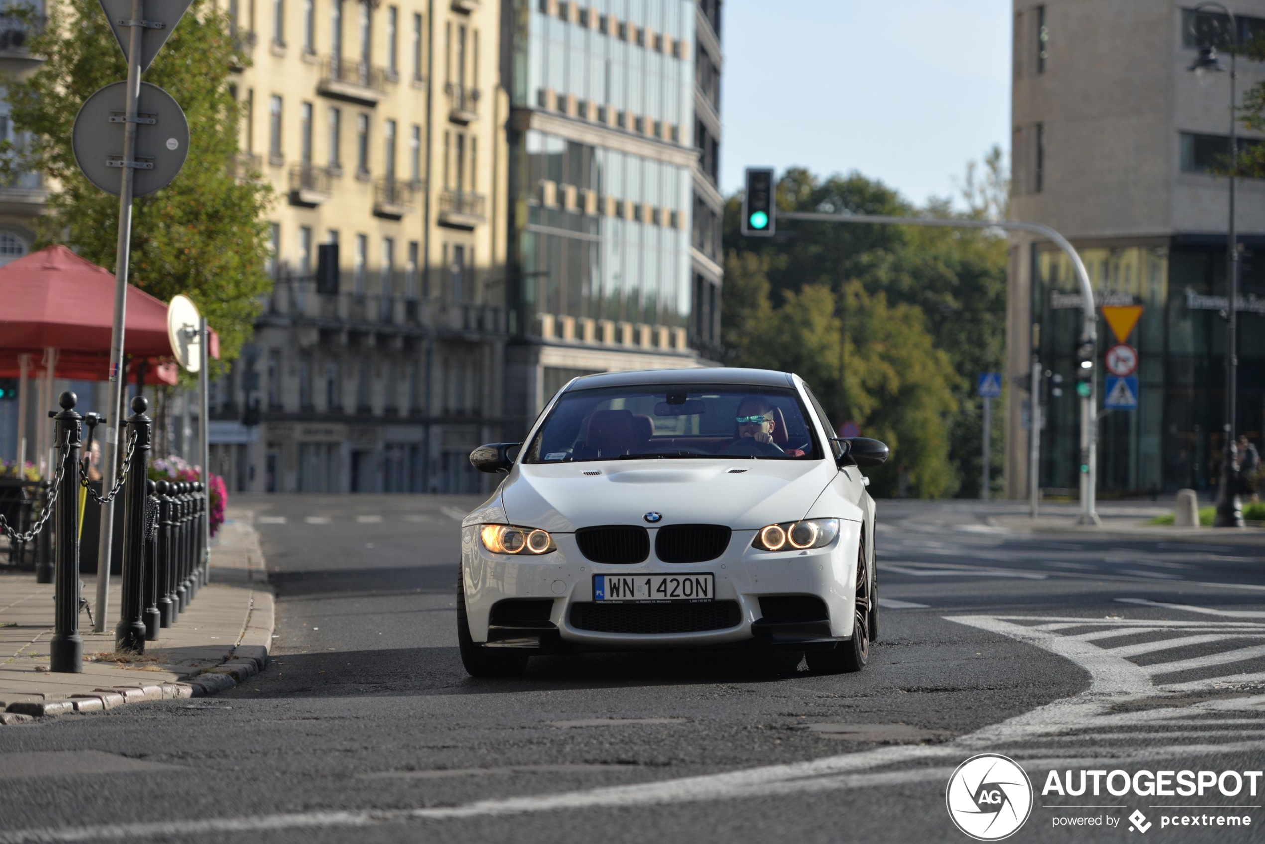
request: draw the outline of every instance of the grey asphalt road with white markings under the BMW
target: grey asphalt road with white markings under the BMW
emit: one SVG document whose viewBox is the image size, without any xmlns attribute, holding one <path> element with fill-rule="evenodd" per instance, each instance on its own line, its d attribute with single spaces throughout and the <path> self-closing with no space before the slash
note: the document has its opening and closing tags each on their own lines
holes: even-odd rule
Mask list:
<svg viewBox="0 0 1265 844">
<path fill-rule="evenodd" d="M 983 520 L 1013 505 L 880 502 L 860 674 L 651 653 L 476 681 L 454 630 L 476 502 L 256 500 L 272 666 L 210 698 L 0 729 L 0 843 L 965 841 L 945 790 L 978 753 L 1036 787 L 1009 840 L 1127 839 L 1135 810 L 1147 838 L 1261 838 L 1262 781 L 1041 793 L 1051 769 L 1262 768 L 1260 545 L 1013 535 Z M 77 772 L 6 763 L 56 752 Z M 1180 815 L 1252 826 L 1163 825 Z M 1101 825 L 1056 825 L 1075 817 Z"/>
</svg>

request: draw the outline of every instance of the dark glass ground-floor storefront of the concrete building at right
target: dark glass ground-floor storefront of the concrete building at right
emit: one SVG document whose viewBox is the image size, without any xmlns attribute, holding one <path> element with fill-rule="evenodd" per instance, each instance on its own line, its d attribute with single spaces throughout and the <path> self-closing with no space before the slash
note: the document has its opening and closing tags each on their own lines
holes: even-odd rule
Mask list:
<svg viewBox="0 0 1265 844">
<path fill-rule="evenodd" d="M 1103 353 L 1117 342 L 1098 318 L 1095 395 L 1102 497 L 1213 490 L 1225 448 L 1226 240 L 1185 235 L 1078 244 L 1095 304 L 1142 305 L 1127 338 L 1137 349 L 1137 409 L 1103 407 Z M 1261 447 L 1265 431 L 1265 238 L 1241 239 L 1237 431 Z M 1037 249 L 1032 319 L 1042 368 L 1041 487 L 1075 490 L 1075 395 L 1082 300 L 1066 257 Z M 1054 395 L 1061 386 L 1061 396 Z"/>
</svg>

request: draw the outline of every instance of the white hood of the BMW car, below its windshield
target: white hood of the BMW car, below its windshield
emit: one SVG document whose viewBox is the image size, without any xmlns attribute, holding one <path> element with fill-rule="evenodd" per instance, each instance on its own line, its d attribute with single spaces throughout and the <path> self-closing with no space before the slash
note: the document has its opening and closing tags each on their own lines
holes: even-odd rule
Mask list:
<svg viewBox="0 0 1265 844">
<path fill-rule="evenodd" d="M 645 524 L 648 512 L 663 515 L 655 526 L 758 530 L 802 519 L 836 472 L 829 461 L 520 463 L 501 487 L 501 504 L 510 524 L 562 533 Z"/>
</svg>

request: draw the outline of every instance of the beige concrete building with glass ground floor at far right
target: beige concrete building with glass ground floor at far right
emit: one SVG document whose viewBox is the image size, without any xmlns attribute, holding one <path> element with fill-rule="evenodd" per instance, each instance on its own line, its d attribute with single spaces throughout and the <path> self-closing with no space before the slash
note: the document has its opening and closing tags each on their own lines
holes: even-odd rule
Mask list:
<svg viewBox="0 0 1265 844">
<path fill-rule="evenodd" d="M 1216 486 L 1225 407 L 1230 73 L 1199 78 L 1194 3 L 1016 0 L 1011 215 L 1071 240 L 1098 305 L 1141 305 L 1136 410 L 1111 410 L 1098 433 L 1099 496 Z M 1265 30 L 1265 0 L 1227 0 L 1241 38 Z M 1211 13 L 1209 13 L 1211 15 Z M 1228 20 L 1211 15 L 1230 32 Z M 1200 27 L 1200 30 L 1203 28 Z M 1217 47 L 1225 48 L 1225 38 Z M 1228 71 L 1228 56 L 1221 61 Z M 1242 94 L 1265 66 L 1238 61 Z M 1261 143 L 1243 133 L 1240 146 Z M 1243 137 L 1246 135 L 1246 137 Z M 1240 180 L 1237 430 L 1265 431 L 1265 182 Z M 1032 356 L 1045 406 L 1040 486 L 1075 495 L 1079 405 L 1075 347 L 1082 297 L 1051 244 L 1016 237 L 1007 313 L 1006 493 L 1028 490 Z M 1097 406 L 1108 383 L 1102 353 L 1117 342 L 1099 316 Z"/>
</svg>

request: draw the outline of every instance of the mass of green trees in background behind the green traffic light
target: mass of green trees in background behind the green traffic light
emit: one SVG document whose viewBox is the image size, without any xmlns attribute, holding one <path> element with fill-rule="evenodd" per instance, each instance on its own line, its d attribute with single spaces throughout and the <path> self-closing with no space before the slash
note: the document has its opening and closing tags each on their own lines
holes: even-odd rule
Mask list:
<svg viewBox="0 0 1265 844">
<path fill-rule="evenodd" d="M 994 148 L 982 177 L 968 168 L 963 216 L 1004 215 L 1007 190 Z M 782 178 L 778 206 L 954 216 L 947 200 L 920 210 L 858 173 L 820 178 L 802 168 Z M 978 496 L 983 431 L 974 387 L 978 373 L 1003 371 L 1006 239 L 988 230 L 803 221 L 779 227 L 778 238 L 743 238 L 737 218 L 732 197 L 721 319 L 727 362 L 798 372 L 836 424 L 850 419 L 867 435 L 891 437 L 877 493 L 894 493 L 903 468 L 911 495 Z M 786 315 L 792 307 L 797 314 Z M 775 333 L 762 333 L 764 325 Z M 993 416 L 992 477 L 999 482 L 1003 414 Z"/>
</svg>

